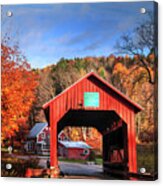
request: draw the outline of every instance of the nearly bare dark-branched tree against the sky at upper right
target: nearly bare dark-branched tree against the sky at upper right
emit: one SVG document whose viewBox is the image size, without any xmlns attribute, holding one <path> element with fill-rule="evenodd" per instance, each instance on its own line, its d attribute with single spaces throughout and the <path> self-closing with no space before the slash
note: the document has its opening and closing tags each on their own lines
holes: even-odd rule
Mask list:
<svg viewBox="0 0 163 186">
<path fill-rule="evenodd" d="M 137 63 L 142 66 L 147 74 L 148 81 L 154 84 L 156 76 L 151 74 L 150 68 L 157 69 L 157 25 L 150 12 L 146 20 L 141 22 L 132 32 L 123 34 L 117 41 L 115 48 L 120 54 L 129 54 L 137 57 Z M 154 60 L 149 61 L 147 55 L 153 55 Z"/>
</svg>

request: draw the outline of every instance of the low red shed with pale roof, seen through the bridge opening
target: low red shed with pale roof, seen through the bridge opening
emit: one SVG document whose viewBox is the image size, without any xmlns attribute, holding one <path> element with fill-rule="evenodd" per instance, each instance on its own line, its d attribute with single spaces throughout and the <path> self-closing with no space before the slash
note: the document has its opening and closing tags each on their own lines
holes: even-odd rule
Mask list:
<svg viewBox="0 0 163 186">
<path fill-rule="evenodd" d="M 91 147 L 83 141 L 59 141 L 58 156 L 68 159 L 86 160 L 90 155 Z"/>
</svg>

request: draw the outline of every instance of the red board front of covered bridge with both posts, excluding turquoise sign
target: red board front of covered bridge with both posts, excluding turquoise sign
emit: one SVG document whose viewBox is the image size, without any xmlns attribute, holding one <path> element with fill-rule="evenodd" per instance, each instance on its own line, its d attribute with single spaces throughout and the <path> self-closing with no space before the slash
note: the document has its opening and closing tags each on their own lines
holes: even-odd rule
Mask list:
<svg viewBox="0 0 163 186">
<path fill-rule="evenodd" d="M 84 108 L 84 92 L 99 92 L 99 107 Z M 70 110 L 108 110 L 115 111 L 128 125 L 129 171 L 136 171 L 135 113 L 141 106 L 131 101 L 112 85 L 91 72 L 68 89 L 46 103 L 50 107 L 51 126 L 51 166 L 57 166 L 57 123 Z"/>
</svg>

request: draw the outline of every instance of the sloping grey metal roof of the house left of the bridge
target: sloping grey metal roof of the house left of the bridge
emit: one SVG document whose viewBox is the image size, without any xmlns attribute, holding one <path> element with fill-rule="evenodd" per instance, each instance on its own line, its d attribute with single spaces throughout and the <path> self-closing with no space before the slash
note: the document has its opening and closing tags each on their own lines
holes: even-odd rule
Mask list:
<svg viewBox="0 0 163 186">
<path fill-rule="evenodd" d="M 35 138 L 47 126 L 48 123 L 36 123 L 34 127 L 30 130 L 27 138 Z"/>
</svg>

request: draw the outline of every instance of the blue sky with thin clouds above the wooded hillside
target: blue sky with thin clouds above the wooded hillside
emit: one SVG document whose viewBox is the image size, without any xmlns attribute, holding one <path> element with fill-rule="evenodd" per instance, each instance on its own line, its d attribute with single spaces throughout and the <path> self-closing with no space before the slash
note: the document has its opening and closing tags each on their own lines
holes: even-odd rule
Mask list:
<svg viewBox="0 0 163 186">
<path fill-rule="evenodd" d="M 142 7 L 153 11 L 153 2 L 4 5 L 2 38 L 18 43 L 33 68 L 62 57 L 109 56 L 120 36 L 146 19 Z"/>
</svg>

